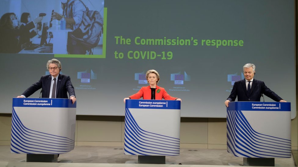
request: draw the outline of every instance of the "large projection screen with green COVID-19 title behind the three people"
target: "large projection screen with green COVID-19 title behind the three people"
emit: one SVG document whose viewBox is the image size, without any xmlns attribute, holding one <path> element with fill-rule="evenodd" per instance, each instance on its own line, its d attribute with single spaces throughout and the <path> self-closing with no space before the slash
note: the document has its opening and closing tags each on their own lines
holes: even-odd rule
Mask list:
<svg viewBox="0 0 298 167">
<path fill-rule="evenodd" d="M 82 2 L 103 18 L 93 54 L 70 54 L 67 34 L 73 27 L 61 31 L 56 19 L 50 24 L 52 10 L 63 13 L 60 0 L 0 2 L 1 16 L 14 12 L 19 24 L 24 12 L 32 20 L 46 14 L 30 39 L 38 49 L 0 50 L 0 113 L 11 113 L 12 98 L 49 75 L 46 62 L 56 58 L 61 73 L 71 77 L 77 115 L 124 116 L 123 98 L 147 86 L 144 75 L 155 69 L 158 86 L 182 99 L 181 117 L 225 118 L 224 101 L 244 78 L 243 65 L 253 63 L 254 78 L 291 102 L 291 118 L 296 117 L 294 0 Z M 40 90 L 30 97 L 39 96 Z M 264 101 L 273 100 L 264 96 Z"/>
</svg>

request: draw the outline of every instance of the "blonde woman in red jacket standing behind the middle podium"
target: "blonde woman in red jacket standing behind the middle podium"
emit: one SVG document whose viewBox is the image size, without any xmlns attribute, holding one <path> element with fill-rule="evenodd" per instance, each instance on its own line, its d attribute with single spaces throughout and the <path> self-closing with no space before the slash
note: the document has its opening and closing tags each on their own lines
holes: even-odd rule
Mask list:
<svg viewBox="0 0 298 167">
<path fill-rule="evenodd" d="M 123 99 L 124 103 L 126 99 L 157 99 L 157 100 L 180 100 L 179 98 L 170 96 L 164 88 L 157 86 L 160 80 L 159 74 L 156 70 L 148 70 L 146 78 L 149 86 L 142 87 L 139 92 Z"/>
</svg>

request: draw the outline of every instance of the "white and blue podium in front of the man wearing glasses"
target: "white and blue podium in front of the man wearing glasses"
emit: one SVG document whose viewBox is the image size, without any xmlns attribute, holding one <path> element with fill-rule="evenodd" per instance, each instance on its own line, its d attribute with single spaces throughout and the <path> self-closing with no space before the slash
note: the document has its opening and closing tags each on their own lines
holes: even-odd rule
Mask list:
<svg viewBox="0 0 298 167">
<path fill-rule="evenodd" d="M 57 162 L 74 149 L 76 103 L 70 99 L 13 98 L 12 153 L 27 162 Z"/>
</svg>

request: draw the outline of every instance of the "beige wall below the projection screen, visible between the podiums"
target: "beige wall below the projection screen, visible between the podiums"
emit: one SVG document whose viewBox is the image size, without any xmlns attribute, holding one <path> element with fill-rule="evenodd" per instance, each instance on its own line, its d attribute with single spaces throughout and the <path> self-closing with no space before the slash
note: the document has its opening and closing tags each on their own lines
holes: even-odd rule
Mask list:
<svg viewBox="0 0 298 167">
<path fill-rule="evenodd" d="M 298 149 L 297 117 L 291 122 L 292 149 Z M 11 114 L 0 114 L 0 145 L 10 144 Z M 225 118 L 181 118 L 181 148 L 226 149 Z M 124 145 L 124 117 L 77 116 L 76 145 Z"/>
</svg>

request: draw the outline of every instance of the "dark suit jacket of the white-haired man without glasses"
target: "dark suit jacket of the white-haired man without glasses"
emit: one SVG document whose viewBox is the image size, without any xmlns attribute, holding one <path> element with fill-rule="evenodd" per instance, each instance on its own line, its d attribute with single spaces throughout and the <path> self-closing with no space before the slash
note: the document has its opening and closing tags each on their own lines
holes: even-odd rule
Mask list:
<svg viewBox="0 0 298 167">
<path fill-rule="evenodd" d="M 227 100 L 230 100 L 230 102 L 234 102 L 236 99 L 236 96 L 238 96 L 238 101 L 259 102 L 261 98 L 261 94 L 264 94 L 270 97 L 276 102 L 279 102 L 280 100 L 282 100 L 281 97 L 279 97 L 269 88 L 267 88 L 267 86 L 263 81 L 258 81 L 256 79 L 253 79 L 252 87 L 249 93 L 247 92 L 247 89 L 246 89 L 245 79 L 235 82 L 232 92 L 230 96 L 227 98 Z"/>
</svg>

